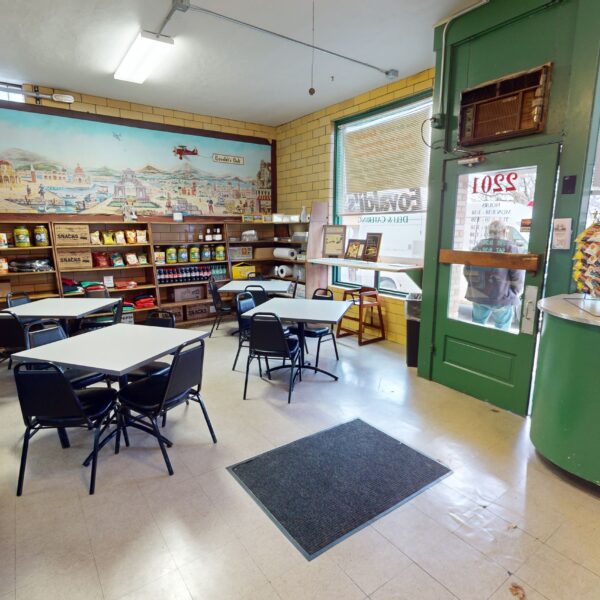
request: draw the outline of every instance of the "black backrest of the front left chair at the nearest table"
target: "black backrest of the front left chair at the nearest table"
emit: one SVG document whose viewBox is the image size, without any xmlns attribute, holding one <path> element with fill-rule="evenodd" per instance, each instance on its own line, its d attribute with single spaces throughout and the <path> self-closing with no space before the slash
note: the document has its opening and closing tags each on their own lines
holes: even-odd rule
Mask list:
<svg viewBox="0 0 600 600">
<path fill-rule="evenodd" d="M 26 426 L 37 418 L 81 419 L 85 416 L 77 395 L 63 372 L 52 363 L 21 363 L 14 369 L 17 395 Z"/>
</svg>

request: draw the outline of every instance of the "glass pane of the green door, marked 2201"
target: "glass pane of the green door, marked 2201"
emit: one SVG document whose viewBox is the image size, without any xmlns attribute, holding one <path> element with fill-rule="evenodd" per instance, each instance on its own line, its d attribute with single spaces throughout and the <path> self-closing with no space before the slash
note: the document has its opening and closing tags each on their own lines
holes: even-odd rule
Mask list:
<svg viewBox="0 0 600 600">
<path fill-rule="evenodd" d="M 473 252 L 527 252 L 537 167 L 458 177 L 452 247 Z M 525 271 L 452 265 L 448 317 L 519 333 Z"/>
</svg>

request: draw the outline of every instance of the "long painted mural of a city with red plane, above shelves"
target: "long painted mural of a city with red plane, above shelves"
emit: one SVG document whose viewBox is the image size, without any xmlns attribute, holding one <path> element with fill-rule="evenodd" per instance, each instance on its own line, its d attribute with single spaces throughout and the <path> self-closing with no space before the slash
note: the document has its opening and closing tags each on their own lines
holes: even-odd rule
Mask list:
<svg viewBox="0 0 600 600">
<path fill-rule="evenodd" d="M 271 212 L 271 146 L 0 108 L 0 212 Z"/>
</svg>

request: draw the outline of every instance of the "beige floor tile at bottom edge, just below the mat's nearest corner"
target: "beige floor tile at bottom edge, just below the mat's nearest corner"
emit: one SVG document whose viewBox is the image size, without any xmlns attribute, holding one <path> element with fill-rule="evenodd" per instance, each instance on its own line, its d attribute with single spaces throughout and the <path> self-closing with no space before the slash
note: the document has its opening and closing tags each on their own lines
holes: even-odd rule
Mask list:
<svg viewBox="0 0 600 600">
<path fill-rule="evenodd" d="M 363 600 L 366 595 L 338 567 L 322 555 L 277 577 L 273 587 L 285 600 Z"/>
</svg>

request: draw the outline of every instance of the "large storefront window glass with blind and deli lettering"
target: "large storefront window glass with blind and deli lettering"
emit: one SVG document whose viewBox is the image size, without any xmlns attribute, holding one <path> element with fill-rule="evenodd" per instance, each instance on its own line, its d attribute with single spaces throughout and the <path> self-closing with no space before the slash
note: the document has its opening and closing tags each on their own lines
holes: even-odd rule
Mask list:
<svg viewBox="0 0 600 600">
<path fill-rule="evenodd" d="M 422 266 L 425 251 L 431 99 L 336 128 L 336 221 L 347 239 L 381 233 L 381 262 Z M 372 271 L 338 269 L 335 281 L 374 286 Z M 381 272 L 379 288 L 420 291 L 404 273 Z"/>
</svg>

